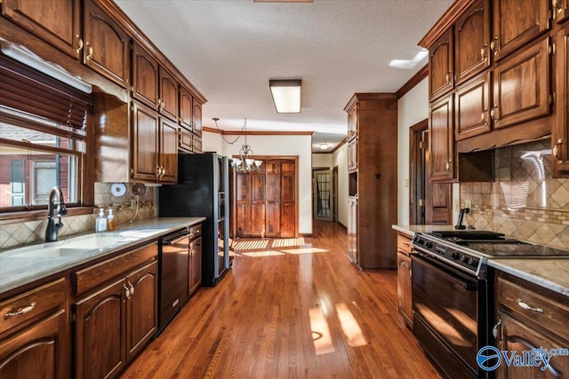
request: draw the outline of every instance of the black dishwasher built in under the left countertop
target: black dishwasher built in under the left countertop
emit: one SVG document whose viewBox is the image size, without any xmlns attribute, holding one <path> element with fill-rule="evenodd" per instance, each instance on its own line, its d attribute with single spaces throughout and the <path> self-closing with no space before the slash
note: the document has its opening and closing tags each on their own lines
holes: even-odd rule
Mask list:
<svg viewBox="0 0 569 379">
<path fill-rule="evenodd" d="M 189 228 L 185 227 L 160 239 L 160 314 L 162 331 L 188 300 Z"/>
</svg>

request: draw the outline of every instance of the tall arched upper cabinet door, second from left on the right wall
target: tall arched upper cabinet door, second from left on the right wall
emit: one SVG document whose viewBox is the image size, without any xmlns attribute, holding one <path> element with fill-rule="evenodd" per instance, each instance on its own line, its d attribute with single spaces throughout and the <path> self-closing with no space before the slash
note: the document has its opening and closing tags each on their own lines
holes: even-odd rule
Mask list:
<svg viewBox="0 0 569 379">
<path fill-rule="evenodd" d="M 454 24 L 456 83 L 490 67 L 490 5 L 477 0 Z"/>
</svg>

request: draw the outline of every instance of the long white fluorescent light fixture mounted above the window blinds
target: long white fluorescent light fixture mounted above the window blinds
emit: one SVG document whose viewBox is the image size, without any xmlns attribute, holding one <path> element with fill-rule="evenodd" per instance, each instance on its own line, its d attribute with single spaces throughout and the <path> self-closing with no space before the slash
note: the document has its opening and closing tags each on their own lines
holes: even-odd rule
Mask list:
<svg viewBox="0 0 569 379">
<path fill-rule="evenodd" d="M 53 79 L 57 79 L 62 83 L 66 83 L 76 90 L 85 93 L 91 93 L 92 91 L 91 84 L 84 83 L 84 81 L 76 78 L 73 75 L 70 75 L 63 68 L 47 62 L 44 59 L 41 59 L 32 51 L 26 49 L 24 46 L 0 40 L 0 49 L 2 49 L 2 52 L 4 52 L 4 54 L 8 57 L 16 59 L 20 63 L 23 63 L 28 67 L 32 67 L 37 71 L 44 73 L 45 75 L 51 76 Z"/>
</svg>

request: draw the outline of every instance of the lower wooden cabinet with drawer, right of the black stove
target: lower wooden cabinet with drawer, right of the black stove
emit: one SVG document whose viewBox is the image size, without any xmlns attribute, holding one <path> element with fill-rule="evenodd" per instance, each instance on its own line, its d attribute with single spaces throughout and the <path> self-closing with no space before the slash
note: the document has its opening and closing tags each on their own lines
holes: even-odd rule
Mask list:
<svg viewBox="0 0 569 379">
<path fill-rule="evenodd" d="M 547 288 L 519 279 L 505 272 L 496 274 L 496 323 L 493 335 L 501 351 L 566 348 L 569 344 L 569 302 Z M 539 367 L 508 366 L 503 361 L 496 377 L 565 377 L 569 359 L 552 357 L 546 372 Z"/>
</svg>

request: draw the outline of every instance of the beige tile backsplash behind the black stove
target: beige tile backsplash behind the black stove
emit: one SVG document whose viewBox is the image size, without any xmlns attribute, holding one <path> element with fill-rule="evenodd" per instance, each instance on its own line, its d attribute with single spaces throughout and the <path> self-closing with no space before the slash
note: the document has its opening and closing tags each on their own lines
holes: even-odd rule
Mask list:
<svg viewBox="0 0 569 379">
<path fill-rule="evenodd" d="M 549 139 L 494 152 L 493 183 L 461 183 L 468 225 L 569 249 L 569 179 L 551 178 Z"/>
</svg>

